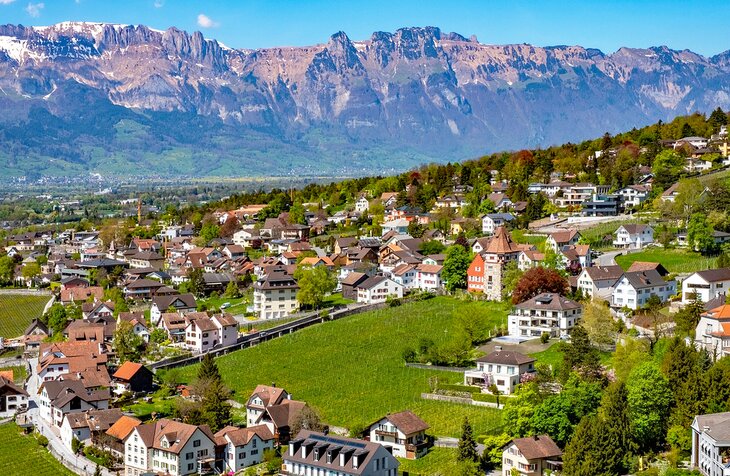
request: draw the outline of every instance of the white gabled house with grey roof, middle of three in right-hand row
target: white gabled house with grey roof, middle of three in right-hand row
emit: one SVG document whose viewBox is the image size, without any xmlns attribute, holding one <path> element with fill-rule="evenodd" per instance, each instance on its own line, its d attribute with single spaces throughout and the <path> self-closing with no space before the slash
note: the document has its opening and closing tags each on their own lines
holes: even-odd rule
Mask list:
<svg viewBox="0 0 730 476">
<path fill-rule="evenodd" d="M 666 302 L 677 292 L 677 282 L 665 281 L 656 270 L 625 272 L 613 285 L 611 306 L 640 309 L 652 295 Z"/>
</svg>

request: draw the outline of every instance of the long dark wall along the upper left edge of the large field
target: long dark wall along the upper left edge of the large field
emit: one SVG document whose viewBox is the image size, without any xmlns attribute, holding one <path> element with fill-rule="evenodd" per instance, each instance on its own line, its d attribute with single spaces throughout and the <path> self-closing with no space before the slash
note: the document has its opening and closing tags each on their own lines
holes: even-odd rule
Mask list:
<svg viewBox="0 0 730 476">
<path fill-rule="evenodd" d="M 276 339 L 277 337 L 282 337 L 286 334 L 291 334 L 293 332 L 305 329 L 307 327 L 313 326 L 314 324 L 322 323 L 325 321 L 334 321 L 337 319 L 342 319 L 343 317 L 351 316 L 353 314 L 359 314 L 361 312 L 367 312 L 367 311 L 374 311 L 376 309 L 382 309 L 386 307 L 385 303 L 381 304 L 369 304 L 369 305 L 363 305 L 358 307 L 352 307 L 347 309 L 341 309 L 338 311 L 333 311 L 330 314 L 327 314 L 327 310 L 323 311 L 317 311 L 312 313 L 311 315 L 302 317 L 301 319 L 297 319 L 296 321 L 287 322 L 286 324 L 282 324 L 280 326 L 272 327 L 270 329 L 267 329 L 265 331 L 256 332 L 254 334 L 245 335 L 242 337 L 239 337 L 238 342 L 229 345 L 227 347 L 221 347 L 218 349 L 213 349 L 208 351 L 208 354 L 211 354 L 213 357 L 219 357 L 221 355 L 225 355 L 229 352 L 233 352 L 240 349 L 246 349 L 248 347 L 254 347 L 262 342 L 269 341 L 271 339 Z M 150 365 L 150 368 L 153 372 L 156 372 L 159 369 L 169 369 L 169 368 L 175 368 L 175 367 L 184 367 L 186 365 L 192 365 L 200 362 L 203 359 L 203 356 L 205 354 L 198 354 L 192 357 L 188 356 L 179 356 L 179 357 L 172 357 L 169 359 L 164 359 L 159 362 L 155 362 L 152 365 Z"/>
</svg>

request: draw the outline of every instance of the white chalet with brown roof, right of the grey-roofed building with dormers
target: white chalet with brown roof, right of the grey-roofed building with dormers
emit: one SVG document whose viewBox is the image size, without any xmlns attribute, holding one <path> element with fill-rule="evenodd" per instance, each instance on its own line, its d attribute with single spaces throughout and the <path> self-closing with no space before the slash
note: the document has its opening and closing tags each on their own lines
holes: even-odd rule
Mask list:
<svg viewBox="0 0 730 476">
<path fill-rule="evenodd" d="M 428 453 L 428 423 L 411 411 L 390 413 L 367 429 L 370 441 L 388 448 L 398 458 L 416 459 Z"/>
</svg>

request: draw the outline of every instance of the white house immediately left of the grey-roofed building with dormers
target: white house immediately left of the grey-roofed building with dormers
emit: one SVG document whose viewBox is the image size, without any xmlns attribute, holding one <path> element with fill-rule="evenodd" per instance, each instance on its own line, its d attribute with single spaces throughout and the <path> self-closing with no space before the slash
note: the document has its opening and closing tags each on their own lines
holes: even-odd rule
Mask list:
<svg viewBox="0 0 730 476">
<path fill-rule="evenodd" d="M 248 428 L 227 426 L 215 434 L 216 444 L 223 447 L 223 471 L 236 473 L 260 464 L 264 452 L 274 449 L 274 434 L 266 425 Z"/>
</svg>

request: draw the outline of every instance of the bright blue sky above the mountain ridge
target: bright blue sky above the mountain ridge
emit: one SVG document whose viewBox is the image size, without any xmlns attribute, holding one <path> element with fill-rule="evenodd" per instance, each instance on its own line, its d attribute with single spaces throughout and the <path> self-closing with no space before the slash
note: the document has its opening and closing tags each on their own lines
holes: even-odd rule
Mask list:
<svg viewBox="0 0 730 476">
<path fill-rule="evenodd" d="M 202 31 L 234 48 L 353 40 L 403 26 L 438 26 L 482 43 L 667 45 L 713 55 L 730 49 L 727 0 L 0 0 L 0 23 L 66 20 Z"/>
</svg>

